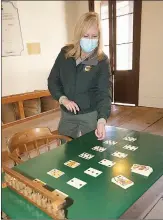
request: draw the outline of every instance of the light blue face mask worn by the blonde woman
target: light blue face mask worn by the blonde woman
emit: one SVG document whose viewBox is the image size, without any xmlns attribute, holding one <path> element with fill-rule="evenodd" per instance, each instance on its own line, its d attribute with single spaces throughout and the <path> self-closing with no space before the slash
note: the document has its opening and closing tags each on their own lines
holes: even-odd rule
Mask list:
<svg viewBox="0 0 163 220">
<path fill-rule="evenodd" d="M 85 53 L 92 52 L 98 46 L 98 39 L 81 38 L 80 46 Z"/>
</svg>

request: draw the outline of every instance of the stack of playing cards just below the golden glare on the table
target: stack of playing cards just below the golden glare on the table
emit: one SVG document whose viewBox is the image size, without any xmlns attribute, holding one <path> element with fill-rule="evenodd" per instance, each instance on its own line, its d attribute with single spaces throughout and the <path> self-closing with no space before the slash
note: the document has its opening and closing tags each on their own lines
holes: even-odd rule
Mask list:
<svg viewBox="0 0 163 220">
<path fill-rule="evenodd" d="M 111 179 L 111 181 L 118 186 L 122 187 L 123 189 L 127 189 L 130 186 L 134 185 L 134 182 L 131 180 L 127 179 L 126 177 L 119 175 Z"/>
</svg>

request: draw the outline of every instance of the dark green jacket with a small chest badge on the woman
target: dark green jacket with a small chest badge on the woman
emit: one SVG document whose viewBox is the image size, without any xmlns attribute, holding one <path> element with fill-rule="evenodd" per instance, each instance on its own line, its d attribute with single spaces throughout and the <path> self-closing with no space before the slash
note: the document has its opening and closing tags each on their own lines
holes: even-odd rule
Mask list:
<svg viewBox="0 0 163 220">
<path fill-rule="evenodd" d="M 65 58 L 60 51 L 48 77 L 48 89 L 55 100 L 67 96 L 80 108 L 78 114 L 97 110 L 98 119 L 107 118 L 111 111 L 110 67 L 107 56 L 102 61 L 97 56 L 76 65 L 74 58 Z M 86 71 L 90 69 L 89 71 Z M 74 114 L 61 105 L 61 108 Z"/>
</svg>

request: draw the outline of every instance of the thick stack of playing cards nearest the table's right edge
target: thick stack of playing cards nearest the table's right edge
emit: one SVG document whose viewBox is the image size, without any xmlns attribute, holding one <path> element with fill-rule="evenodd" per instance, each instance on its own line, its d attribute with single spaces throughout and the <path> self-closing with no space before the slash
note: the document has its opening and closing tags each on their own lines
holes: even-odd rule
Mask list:
<svg viewBox="0 0 163 220">
<path fill-rule="evenodd" d="M 150 166 L 145 166 L 141 164 L 133 164 L 133 166 L 131 167 L 131 172 L 137 173 L 143 176 L 149 176 L 153 172 L 153 169 Z"/>
</svg>

